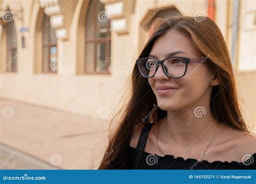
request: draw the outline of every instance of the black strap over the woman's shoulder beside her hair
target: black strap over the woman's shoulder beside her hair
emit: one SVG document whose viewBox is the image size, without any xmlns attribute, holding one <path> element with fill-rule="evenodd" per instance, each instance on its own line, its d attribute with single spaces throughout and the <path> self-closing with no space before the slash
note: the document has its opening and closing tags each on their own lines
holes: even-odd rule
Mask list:
<svg viewBox="0 0 256 184">
<path fill-rule="evenodd" d="M 140 160 L 142 159 L 142 155 L 146 147 L 147 137 L 149 137 L 149 132 L 152 126 L 153 126 L 153 123 L 145 124 L 142 129 L 142 132 L 140 133 L 139 141 L 137 145 L 137 153 L 135 154 L 135 159 L 134 159 L 134 165 L 133 165 L 134 169 L 138 169 L 139 167 Z"/>
</svg>

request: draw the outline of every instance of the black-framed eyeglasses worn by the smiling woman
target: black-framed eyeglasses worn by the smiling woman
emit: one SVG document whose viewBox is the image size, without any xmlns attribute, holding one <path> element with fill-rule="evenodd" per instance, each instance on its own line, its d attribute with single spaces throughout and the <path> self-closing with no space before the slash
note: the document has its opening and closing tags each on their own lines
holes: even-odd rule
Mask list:
<svg viewBox="0 0 256 184">
<path fill-rule="evenodd" d="M 205 62 L 205 59 L 191 59 L 183 57 L 170 57 L 163 60 L 156 60 L 154 58 L 139 58 L 136 60 L 139 72 L 143 77 L 153 77 L 159 64 L 162 66 L 165 75 L 177 79 L 183 77 L 187 72 L 187 65 L 189 62 Z"/>
</svg>

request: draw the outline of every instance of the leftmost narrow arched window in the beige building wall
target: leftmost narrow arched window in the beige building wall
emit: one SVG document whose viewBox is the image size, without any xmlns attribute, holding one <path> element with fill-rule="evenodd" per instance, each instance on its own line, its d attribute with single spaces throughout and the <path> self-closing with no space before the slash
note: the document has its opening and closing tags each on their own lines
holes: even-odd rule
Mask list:
<svg viewBox="0 0 256 184">
<path fill-rule="evenodd" d="M 6 25 L 7 33 L 7 63 L 6 72 L 17 72 L 17 35 L 14 20 Z"/>
</svg>

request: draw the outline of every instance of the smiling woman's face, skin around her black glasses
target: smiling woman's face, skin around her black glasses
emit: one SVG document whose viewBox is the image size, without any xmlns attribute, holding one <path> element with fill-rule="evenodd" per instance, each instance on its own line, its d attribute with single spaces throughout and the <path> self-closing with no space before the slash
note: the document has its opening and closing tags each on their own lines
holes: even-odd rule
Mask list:
<svg viewBox="0 0 256 184">
<path fill-rule="evenodd" d="M 158 38 L 154 42 L 149 56 L 157 60 L 163 60 L 168 58 L 168 54 L 178 51 L 180 53 L 173 56 L 192 59 L 201 59 L 203 56 L 194 46 L 191 38 L 176 30 L 170 30 L 164 36 Z M 212 79 L 213 77 L 205 63 L 190 62 L 185 76 L 179 79 L 167 77 L 163 68 L 158 67 L 154 77 L 148 80 L 153 93 L 156 95 L 160 109 L 179 110 L 195 104 L 199 99 L 209 102 L 212 86 L 217 85 L 217 81 Z M 161 87 L 176 89 L 160 90 Z"/>
</svg>

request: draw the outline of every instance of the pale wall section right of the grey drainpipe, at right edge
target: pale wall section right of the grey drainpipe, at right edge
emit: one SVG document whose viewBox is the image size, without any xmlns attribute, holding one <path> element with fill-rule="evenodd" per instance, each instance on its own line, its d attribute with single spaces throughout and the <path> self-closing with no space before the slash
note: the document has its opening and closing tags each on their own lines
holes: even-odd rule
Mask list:
<svg viewBox="0 0 256 184">
<path fill-rule="evenodd" d="M 243 116 L 256 134 L 256 3 L 240 3 L 236 77 Z"/>
</svg>

